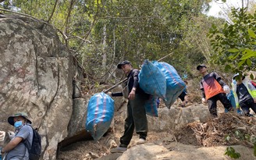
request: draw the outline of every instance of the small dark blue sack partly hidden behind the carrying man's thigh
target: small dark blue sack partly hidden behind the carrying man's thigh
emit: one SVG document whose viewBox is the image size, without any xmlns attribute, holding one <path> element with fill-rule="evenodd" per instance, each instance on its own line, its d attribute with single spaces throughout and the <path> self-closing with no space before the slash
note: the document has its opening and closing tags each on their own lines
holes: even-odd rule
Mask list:
<svg viewBox="0 0 256 160">
<path fill-rule="evenodd" d="M 150 95 L 148 100 L 145 102 L 145 110 L 148 116 L 158 116 L 158 105 L 160 101 L 159 98 Z"/>
</svg>

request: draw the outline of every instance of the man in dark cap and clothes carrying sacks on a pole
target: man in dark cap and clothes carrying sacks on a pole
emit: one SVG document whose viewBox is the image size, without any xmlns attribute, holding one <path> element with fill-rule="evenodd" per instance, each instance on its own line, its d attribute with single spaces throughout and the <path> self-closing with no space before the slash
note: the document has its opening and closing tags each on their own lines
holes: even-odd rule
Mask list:
<svg viewBox="0 0 256 160">
<path fill-rule="evenodd" d="M 123 96 L 128 98 L 127 113 L 124 124 L 124 133 L 120 138 L 120 145 L 117 148 L 112 148 L 111 152 L 124 152 L 127 150 L 130 140 L 133 137 L 133 130 L 140 135 L 137 144 L 144 144 L 148 134 L 148 120 L 144 108 L 145 101 L 148 100 L 149 94 L 146 94 L 139 86 L 138 75 L 140 71 L 133 69 L 131 63 L 127 60 L 117 65 L 118 69 L 123 69 L 123 73 L 127 76 L 127 84 L 123 92 L 111 93 L 112 97 Z"/>
</svg>

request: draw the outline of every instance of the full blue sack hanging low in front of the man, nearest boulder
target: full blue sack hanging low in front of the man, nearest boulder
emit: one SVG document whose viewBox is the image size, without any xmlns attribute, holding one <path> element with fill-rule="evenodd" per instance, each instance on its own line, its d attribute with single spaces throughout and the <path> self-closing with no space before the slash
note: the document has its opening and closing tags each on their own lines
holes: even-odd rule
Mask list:
<svg viewBox="0 0 256 160">
<path fill-rule="evenodd" d="M 104 92 L 94 94 L 87 106 L 86 130 L 94 140 L 107 132 L 115 112 L 114 100 Z"/>
</svg>

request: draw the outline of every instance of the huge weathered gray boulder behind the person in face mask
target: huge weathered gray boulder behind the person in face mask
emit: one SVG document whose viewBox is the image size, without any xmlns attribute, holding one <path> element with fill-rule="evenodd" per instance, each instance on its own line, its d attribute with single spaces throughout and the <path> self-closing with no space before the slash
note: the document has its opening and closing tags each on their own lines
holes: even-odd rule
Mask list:
<svg viewBox="0 0 256 160">
<path fill-rule="evenodd" d="M 42 135 L 44 159 L 55 159 L 72 114 L 73 59 L 56 30 L 39 20 L 0 15 L 0 128 L 27 112 Z"/>
</svg>

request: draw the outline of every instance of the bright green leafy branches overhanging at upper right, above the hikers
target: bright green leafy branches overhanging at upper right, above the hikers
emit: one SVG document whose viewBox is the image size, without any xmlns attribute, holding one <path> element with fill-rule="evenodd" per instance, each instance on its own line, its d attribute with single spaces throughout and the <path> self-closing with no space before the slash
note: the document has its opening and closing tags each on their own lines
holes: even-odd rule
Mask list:
<svg viewBox="0 0 256 160">
<path fill-rule="evenodd" d="M 256 15 L 246 9 L 232 10 L 233 23 L 225 23 L 222 27 L 212 25 L 208 37 L 212 48 L 212 62 L 224 65 L 226 72 L 243 73 L 256 68 L 255 29 Z"/>
</svg>

